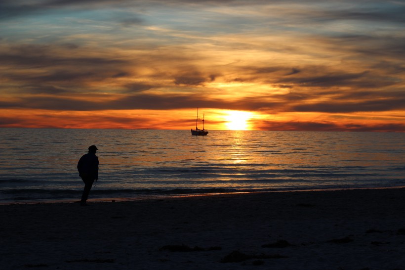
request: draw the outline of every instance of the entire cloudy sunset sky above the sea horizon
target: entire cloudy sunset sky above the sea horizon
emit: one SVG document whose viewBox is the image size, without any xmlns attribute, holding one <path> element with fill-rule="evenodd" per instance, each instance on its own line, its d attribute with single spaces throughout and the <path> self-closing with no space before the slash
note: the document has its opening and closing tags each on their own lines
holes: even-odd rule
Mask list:
<svg viewBox="0 0 405 270">
<path fill-rule="evenodd" d="M 1 0 L 0 127 L 405 132 L 404 0 Z"/>
</svg>

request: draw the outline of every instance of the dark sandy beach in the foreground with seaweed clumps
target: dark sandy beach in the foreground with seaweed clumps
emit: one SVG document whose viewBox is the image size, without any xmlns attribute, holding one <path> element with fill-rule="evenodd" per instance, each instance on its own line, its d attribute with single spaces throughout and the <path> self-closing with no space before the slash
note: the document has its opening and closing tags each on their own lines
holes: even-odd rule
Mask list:
<svg viewBox="0 0 405 270">
<path fill-rule="evenodd" d="M 0 268 L 405 269 L 405 189 L 0 205 Z"/>
</svg>

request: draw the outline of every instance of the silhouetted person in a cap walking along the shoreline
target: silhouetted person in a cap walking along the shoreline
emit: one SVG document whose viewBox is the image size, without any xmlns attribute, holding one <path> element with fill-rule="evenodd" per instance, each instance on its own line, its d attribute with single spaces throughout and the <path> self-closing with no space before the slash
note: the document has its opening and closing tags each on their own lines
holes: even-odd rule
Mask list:
<svg viewBox="0 0 405 270">
<path fill-rule="evenodd" d="M 78 171 L 81 180 L 84 182 L 84 190 L 81 195 L 81 205 L 86 205 L 88 193 L 94 180 L 98 180 L 98 157 L 96 156 L 97 147 L 91 145 L 88 147 L 88 154 L 83 155 L 78 163 Z"/>
</svg>

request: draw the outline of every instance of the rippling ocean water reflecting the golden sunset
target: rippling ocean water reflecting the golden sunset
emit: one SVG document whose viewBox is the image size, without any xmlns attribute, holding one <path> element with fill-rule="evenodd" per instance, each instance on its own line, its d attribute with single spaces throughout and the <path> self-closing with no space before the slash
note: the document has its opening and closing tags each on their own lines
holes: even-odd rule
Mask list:
<svg viewBox="0 0 405 270">
<path fill-rule="evenodd" d="M 405 133 L 0 129 L 0 202 L 79 200 L 79 158 L 98 147 L 89 199 L 405 185 Z"/>
</svg>

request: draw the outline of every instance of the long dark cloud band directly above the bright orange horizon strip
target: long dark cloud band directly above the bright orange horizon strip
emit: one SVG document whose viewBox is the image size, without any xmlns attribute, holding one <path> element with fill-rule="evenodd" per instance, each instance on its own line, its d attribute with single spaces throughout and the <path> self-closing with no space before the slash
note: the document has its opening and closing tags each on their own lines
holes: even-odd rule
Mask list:
<svg viewBox="0 0 405 270">
<path fill-rule="evenodd" d="M 144 92 L 151 88 L 149 85 L 135 84 L 127 86 L 128 93 Z M 42 90 L 42 91 L 41 91 Z M 38 92 L 51 93 L 52 88 L 40 89 Z M 57 89 L 56 89 L 57 91 Z M 331 101 L 313 101 L 323 94 L 334 96 Z M 241 97 L 235 100 L 223 100 L 204 97 L 201 94 L 148 94 L 140 93 L 116 97 L 114 95 L 96 95 L 89 100 L 58 96 L 31 96 L 18 101 L 1 102 L 0 108 L 31 108 L 45 110 L 171 110 L 192 108 L 198 104 L 200 107 L 278 112 L 324 112 L 324 113 L 351 113 L 351 112 L 378 112 L 405 109 L 405 97 L 402 92 L 353 92 L 339 93 L 338 91 L 325 91 L 317 93 L 290 92 L 288 94 L 269 94 L 267 96 Z M 90 96 L 90 95 L 89 95 Z M 98 101 L 103 100 L 103 101 Z"/>
</svg>

